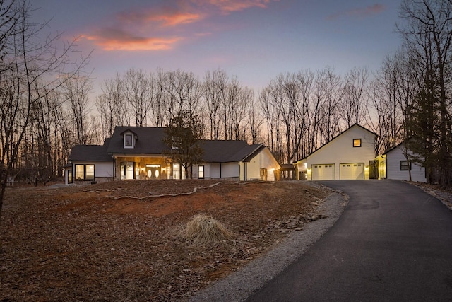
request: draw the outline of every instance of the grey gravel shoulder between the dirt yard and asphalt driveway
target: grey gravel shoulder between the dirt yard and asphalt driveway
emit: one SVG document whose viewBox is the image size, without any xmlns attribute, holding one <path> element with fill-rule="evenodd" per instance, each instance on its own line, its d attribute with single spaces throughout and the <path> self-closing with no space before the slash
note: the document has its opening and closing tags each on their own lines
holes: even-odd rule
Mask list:
<svg viewBox="0 0 452 302">
<path fill-rule="evenodd" d="M 315 182 L 309 184 L 318 186 Z M 347 200 L 346 194 L 333 191 L 317 209 L 317 213 L 325 218 L 307 223 L 302 231 L 293 231 L 266 255 L 238 269 L 225 279 L 215 282 L 196 296 L 182 301 L 245 301 L 254 291 L 273 279 L 316 243 L 338 220 L 347 205 Z"/>
</svg>

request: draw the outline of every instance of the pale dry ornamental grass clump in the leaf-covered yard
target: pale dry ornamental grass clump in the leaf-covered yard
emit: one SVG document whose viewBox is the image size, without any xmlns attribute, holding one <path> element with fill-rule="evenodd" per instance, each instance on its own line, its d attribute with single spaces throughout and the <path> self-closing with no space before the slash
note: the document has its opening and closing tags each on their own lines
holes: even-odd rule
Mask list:
<svg viewBox="0 0 452 302">
<path fill-rule="evenodd" d="M 186 223 L 185 236 L 195 245 L 215 245 L 233 238 L 220 221 L 204 214 L 198 214 Z"/>
</svg>

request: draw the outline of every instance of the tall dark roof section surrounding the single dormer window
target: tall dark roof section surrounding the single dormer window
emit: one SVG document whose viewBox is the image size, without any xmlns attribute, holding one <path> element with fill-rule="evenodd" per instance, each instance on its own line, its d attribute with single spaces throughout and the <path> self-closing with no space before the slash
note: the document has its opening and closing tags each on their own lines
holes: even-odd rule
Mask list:
<svg viewBox="0 0 452 302">
<path fill-rule="evenodd" d="M 123 134 L 127 130 L 138 138 L 133 149 L 124 149 Z M 115 127 L 107 153 L 162 154 L 162 150 L 167 149 L 162 142 L 164 130 L 162 127 Z"/>
</svg>

